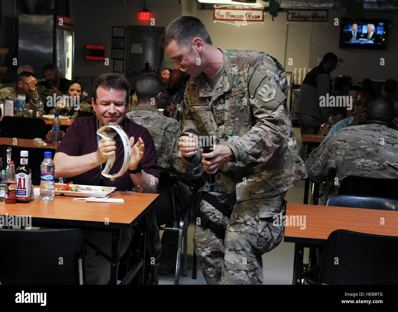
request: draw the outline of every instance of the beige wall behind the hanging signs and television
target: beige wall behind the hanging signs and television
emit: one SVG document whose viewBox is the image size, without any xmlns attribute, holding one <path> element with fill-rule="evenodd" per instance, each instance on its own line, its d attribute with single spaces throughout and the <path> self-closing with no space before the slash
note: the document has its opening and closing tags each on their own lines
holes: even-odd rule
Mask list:
<svg viewBox="0 0 398 312">
<path fill-rule="evenodd" d="M 343 10 L 329 10 L 329 22 L 326 24 L 289 23 L 287 31 L 287 13 L 279 12 L 272 21 L 266 12 L 264 25 L 255 24 L 236 27 L 213 22 L 212 10 L 197 10 L 195 0 L 184 0 L 182 14 L 193 15 L 205 24 L 214 45 L 226 49 L 246 48 L 265 51 L 275 56 L 285 65 L 287 72 L 295 67 L 313 68 L 317 65 L 318 57 L 327 52 L 335 53 L 340 59 L 345 59 L 345 68 L 338 68 L 332 72 L 337 75 L 350 75 L 353 84 L 364 78 L 398 80 L 397 51 L 398 51 L 398 11 L 371 12 L 367 11 L 365 18 L 383 18 L 390 21 L 388 26 L 386 50 L 339 49 L 340 26 L 334 26 L 334 18 L 348 17 Z M 287 35 L 287 46 L 286 46 Z M 285 53 L 286 48 L 286 53 Z M 286 57 L 286 62 L 285 62 Z M 293 59 L 293 65 L 288 65 L 288 59 Z M 380 66 L 380 58 L 385 59 L 385 66 Z"/>
</svg>

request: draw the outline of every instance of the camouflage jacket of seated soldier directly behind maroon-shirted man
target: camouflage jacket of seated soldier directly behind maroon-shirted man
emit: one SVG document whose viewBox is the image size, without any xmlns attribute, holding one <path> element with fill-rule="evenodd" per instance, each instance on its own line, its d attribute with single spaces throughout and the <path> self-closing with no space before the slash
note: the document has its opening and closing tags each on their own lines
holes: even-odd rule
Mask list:
<svg viewBox="0 0 398 312">
<path fill-rule="evenodd" d="M 181 171 L 177 161 L 179 123 L 176 120 L 163 116 L 152 106 L 134 107 L 126 117 L 145 127 L 152 135 L 160 170 Z"/>
</svg>

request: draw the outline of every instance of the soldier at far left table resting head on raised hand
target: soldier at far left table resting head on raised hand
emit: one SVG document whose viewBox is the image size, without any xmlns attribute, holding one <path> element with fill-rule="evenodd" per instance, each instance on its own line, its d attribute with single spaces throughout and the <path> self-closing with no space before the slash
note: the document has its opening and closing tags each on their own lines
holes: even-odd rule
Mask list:
<svg viewBox="0 0 398 312">
<path fill-rule="evenodd" d="M 6 87 L 0 89 L 0 104 L 5 100 L 17 100 L 18 94 L 25 94 L 26 109 L 33 110 L 33 116 L 36 116 L 36 101 L 39 100 L 37 93 L 37 80 L 32 73 L 23 71 L 18 75 L 18 86 L 16 88 Z"/>
</svg>

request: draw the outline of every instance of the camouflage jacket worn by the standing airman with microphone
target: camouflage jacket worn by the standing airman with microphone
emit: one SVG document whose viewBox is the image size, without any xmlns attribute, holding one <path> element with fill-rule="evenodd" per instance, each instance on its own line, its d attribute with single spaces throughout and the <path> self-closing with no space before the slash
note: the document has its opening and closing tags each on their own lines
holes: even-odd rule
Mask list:
<svg viewBox="0 0 398 312">
<path fill-rule="evenodd" d="M 285 70 L 264 52 L 221 51 L 224 75 L 214 92 L 204 73 L 187 82 L 181 135 L 213 136 L 234 152 L 236 162 L 216 175 L 216 191 L 236 192 L 238 201 L 277 195 L 306 177 L 287 108 Z M 191 161 L 181 153 L 178 159 L 184 171 L 202 166 L 200 152 Z"/>
</svg>

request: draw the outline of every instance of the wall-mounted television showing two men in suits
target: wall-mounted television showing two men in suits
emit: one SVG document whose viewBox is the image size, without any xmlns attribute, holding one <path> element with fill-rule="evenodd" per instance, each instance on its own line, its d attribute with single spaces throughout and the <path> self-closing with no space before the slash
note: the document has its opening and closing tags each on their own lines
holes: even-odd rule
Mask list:
<svg viewBox="0 0 398 312">
<path fill-rule="evenodd" d="M 341 19 L 340 48 L 385 49 L 386 20 Z"/>
</svg>

